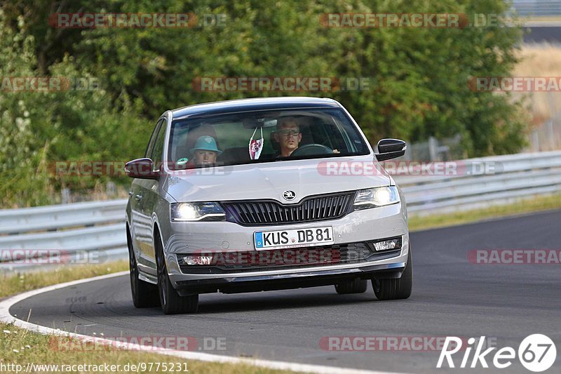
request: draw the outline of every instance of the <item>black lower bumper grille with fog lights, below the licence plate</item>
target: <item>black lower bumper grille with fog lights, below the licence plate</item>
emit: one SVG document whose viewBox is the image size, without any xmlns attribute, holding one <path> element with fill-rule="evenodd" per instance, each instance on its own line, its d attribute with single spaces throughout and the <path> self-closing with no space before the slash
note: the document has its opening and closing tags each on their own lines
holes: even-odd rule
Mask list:
<svg viewBox="0 0 561 374">
<path fill-rule="evenodd" d="M 400 249 L 377 253 L 366 242 L 335 244 L 311 248 L 275 249 L 271 251 L 209 252 L 198 255 L 212 256 L 210 265 L 187 265 L 186 255 L 177 255 L 184 274 L 223 274 L 259 272 L 273 269 L 295 269 L 342 264 L 358 264 L 399 255 Z M 189 256 L 189 255 L 187 255 Z"/>
</svg>

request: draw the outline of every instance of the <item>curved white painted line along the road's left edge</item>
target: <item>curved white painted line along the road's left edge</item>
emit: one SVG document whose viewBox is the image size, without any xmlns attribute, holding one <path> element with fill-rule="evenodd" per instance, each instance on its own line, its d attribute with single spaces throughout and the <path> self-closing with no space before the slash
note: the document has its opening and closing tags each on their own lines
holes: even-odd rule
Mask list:
<svg viewBox="0 0 561 374">
<path fill-rule="evenodd" d="M 306 373 L 397 374 L 397 373 L 382 372 L 382 371 L 358 370 L 353 368 L 337 368 L 335 366 L 311 365 L 307 363 L 269 361 L 269 360 L 262 360 L 262 359 L 245 359 L 245 358 L 234 357 L 234 356 L 220 356 L 217 354 L 208 354 L 208 353 L 201 353 L 201 352 L 177 351 L 174 349 L 158 349 L 157 351 L 154 351 L 154 347 L 130 344 L 125 342 L 116 342 L 115 340 L 104 339 L 97 336 L 94 337 L 94 336 L 81 335 L 76 333 L 69 333 L 67 331 L 55 330 L 54 328 L 39 326 L 34 323 L 29 323 L 21 319 L 15 318 L 9 312 L 10 308 L 15 303 L 25 300 L 27 298 L 31 298 L 32 296 L 39 295 L 41 293 L 46 293 L 48 291 L 74 286 L 76 284 L 88 283 L 90 281 L 109 279 L 114 276 L 121 276 L 126 274 L 128 274 L 128 271 L 114 273 L 114 274 L 107 274 L 102 276 L 94 276 L 93 278 L 79 279 L 77 281 L 55 284 L 53 286 L 39 288 L 38 290 L 31 290 L 25 293 L 20 293 L 18 295 L 12 296 L 11 298 L 7 298 L 6 300 L 2 300 L 0 302 L 0 321 L 4 323 L 13 323 L 15 326 L 18 326 L 20 328 L 25 328 L 35 333 L 41 333 L 45 335 L 65 336 L 76 340 L 81 340 L 83 342 L 95 342 L 96 345 L 109 345 L 109 346 L 119 347 L 123 349 L 166 354 L 168 356 L 175 356 L 187 360 L 222 362 L 222 363 L 245 363 L 254 366 L 261 366 L 264 368 L 271 368 L 271 369 L 278 369 L 278 370 L 292 370 L 292 371 L 300 371 Z"/>
</svg>

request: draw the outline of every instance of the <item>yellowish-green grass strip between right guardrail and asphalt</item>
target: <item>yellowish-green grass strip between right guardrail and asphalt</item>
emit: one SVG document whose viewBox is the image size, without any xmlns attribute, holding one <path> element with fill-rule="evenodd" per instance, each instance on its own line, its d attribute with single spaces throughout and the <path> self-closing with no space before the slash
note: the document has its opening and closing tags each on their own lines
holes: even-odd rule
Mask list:
<svg viewBox="0 0 561 374">
<path fill-rule="evenodd" d="M 539 211 L 561 209 L 561 194 L 552 196 L 536 196 L 533 199 L 524 199 L 507 205 L 490 206 L 489 208 L 475 209 L 472 211 L 446 213 L 440 215 L 411 216 L 409 218 L 410 231 L 435 229 L 463 225 L 491 218 L 508 217 Z"/>
</svg>

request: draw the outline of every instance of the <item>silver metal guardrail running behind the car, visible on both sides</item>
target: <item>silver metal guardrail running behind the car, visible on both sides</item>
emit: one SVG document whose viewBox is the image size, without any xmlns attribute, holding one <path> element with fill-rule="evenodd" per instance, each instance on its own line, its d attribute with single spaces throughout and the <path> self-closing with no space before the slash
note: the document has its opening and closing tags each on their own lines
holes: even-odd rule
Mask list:
<svg viewBox="0 0 561 374">
<path fill-rule="evenodd" d="M 399 162 L 399 161 L 397 161 Z M 455 161 L 453 175 L 394 175 L 410 215 L 428 215 L 508 203 L 561 191 L 561 152 L 513 154 Z M 468 173 L 464 166 L 493 166 L 494 173 Z M 0 251 L 98 251 L 100 258 L 126 258 L 126 200 L 72 203 L 0 211 Z M 0 270 L 29 269 L 0 258 Z"/>
</svg>

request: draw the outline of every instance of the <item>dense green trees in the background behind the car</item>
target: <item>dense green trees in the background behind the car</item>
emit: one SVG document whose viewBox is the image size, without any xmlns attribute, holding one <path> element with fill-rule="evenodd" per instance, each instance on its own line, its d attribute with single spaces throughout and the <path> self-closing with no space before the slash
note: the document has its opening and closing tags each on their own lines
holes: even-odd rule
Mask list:
<svg viewBox="0 0 561 374">
<path fill-rule="evenodd" d="M 100 85 L 93 91 L 0 93 L 0 157 L 8 160 L 0 167 L 27 165 L 22 183 L 39 178 L 46 162 L 133 159 L 142 154 L 164 110 L 243 97 L 330 96 L 349 109 L 372 143 L 382 137 L 417 142 L 461 134 L 468 156 L 518 152 L 525 144 L 522 104 L 468 85 L 474 76 L 508 76 L 517 62 L 521 29 L 503 27 L 508 4 L 501 0 L 414 6 L 399 0 L 15 0 L 0 9 L 2 76 L 97 79 Z M 226 25 L 57 29 L 47 22 L 56 12 L 223 14 Z M 345 28 L 324 27 L 325 13 L 501 17 L 487 27 Z M 192 84 L 203 76 L 365 78 L 369 85 L 358 91 L 335 86 L 331 92 L 197 91 Z M 49 174 L 41 189 L 88 189 L 109 179 Z M 4 188 L 12 195 L 25 191 Z M 41 203 L 48 194 L 16 200 Z"/>
</svg>

